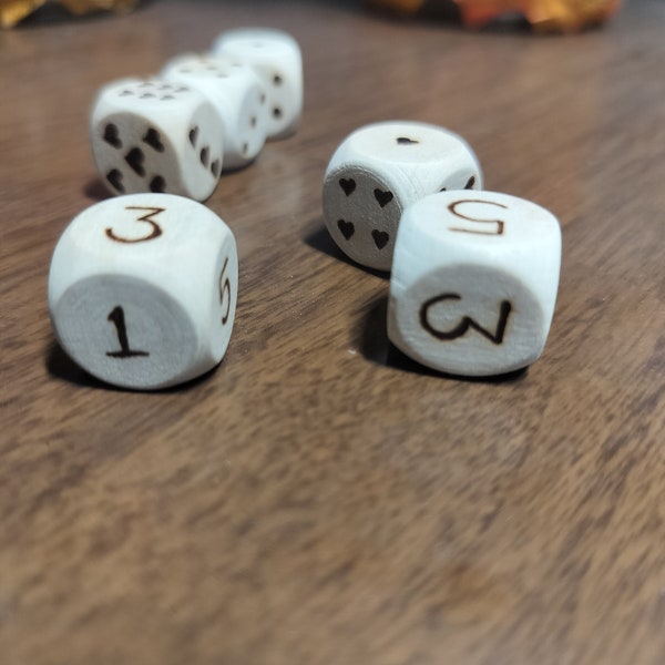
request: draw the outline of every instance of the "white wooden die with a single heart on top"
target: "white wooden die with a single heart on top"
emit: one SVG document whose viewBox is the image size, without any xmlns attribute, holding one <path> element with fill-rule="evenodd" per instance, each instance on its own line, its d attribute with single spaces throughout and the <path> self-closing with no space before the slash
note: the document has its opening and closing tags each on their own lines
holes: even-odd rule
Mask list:
<svg viewBox="0 0 665 665">
<path fill-rule="evenodd" d="M 442 190 L 481 186 L 478 160 L 457 134 L 418 122 L 382 122 L 356 130 L 336 150 L 324 180 L 324 217 L 347 256 L 390 270 L 407 205 Z"/>
</svg>

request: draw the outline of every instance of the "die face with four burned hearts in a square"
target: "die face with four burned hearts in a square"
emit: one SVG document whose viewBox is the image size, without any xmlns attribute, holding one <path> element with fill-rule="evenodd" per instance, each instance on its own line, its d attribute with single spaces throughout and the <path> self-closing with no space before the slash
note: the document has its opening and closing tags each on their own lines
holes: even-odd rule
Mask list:
<svg viewBox="0 0 665 665">
<path fill-rule="evenodd" d="M 324 183 L 324 211 L 328 232 L 347 256 L 390 269 L 402 212 L 393 184 L 361 166 L 335 171 Z"/>
</svg>

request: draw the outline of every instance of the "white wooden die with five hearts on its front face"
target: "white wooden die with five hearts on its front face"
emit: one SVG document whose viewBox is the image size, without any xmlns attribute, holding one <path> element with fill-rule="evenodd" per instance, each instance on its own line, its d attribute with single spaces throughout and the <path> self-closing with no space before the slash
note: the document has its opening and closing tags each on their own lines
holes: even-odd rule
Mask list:
<svg viewBox="0 0 665 665">
<path fill-rule="evenodd" d="M 125 79 L 104 86 L 91 116 L 96 167 L 113 194 L 168 193 L 196 201 L 222 172 L 223 127 L 213 105 L 180 83 Z"/>
</svg>

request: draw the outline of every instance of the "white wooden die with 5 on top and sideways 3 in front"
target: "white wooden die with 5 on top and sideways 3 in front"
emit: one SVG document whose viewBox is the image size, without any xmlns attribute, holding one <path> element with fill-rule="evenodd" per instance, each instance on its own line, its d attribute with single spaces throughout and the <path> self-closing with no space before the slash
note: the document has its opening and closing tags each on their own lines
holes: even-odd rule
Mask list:
<svg viewBox="0 0 665 665">
<path fill-rule="evenodd" d="M 443 192 L 403 213 L 388 337 L 433 369 L 491 376 L 535 361 L 559 287 L 561 229 L 534 203 L 494 192 Z"/>
</svg>

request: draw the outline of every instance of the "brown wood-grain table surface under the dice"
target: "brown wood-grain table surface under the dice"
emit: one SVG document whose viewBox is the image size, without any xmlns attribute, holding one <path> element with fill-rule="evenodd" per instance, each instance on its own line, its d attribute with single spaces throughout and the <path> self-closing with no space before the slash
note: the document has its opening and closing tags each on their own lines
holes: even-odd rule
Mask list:
<svg viewBox="0 0 665 665">
<path fill-rule="evenodd" d="M 54 244 L 103 197 L 103 83 L 224 29 L 299 41 L 298 133 L 207 205 L 241 257 L 217 370 L 109 388 L 59 350 Z M 185 2 L 0 34 L 0 662 L 665 663 L 665 4 L 575 37 L 356 2 Z M 448 126 L 563 226 L 543 357 L 504 380 L 388 345 L 388 279 L 320 191 L 377 120 Z M 174 269 L 176 269 L 174 267 Z"/>
</svg>

